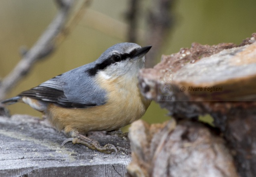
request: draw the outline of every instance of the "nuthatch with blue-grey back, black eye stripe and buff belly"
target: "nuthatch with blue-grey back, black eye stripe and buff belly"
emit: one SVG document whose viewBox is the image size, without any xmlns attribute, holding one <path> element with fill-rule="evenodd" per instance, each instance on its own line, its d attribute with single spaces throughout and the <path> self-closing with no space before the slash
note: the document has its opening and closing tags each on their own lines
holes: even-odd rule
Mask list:
<svg viewBox="0 0 256 177">
<path fill-rule="evenodd" d="M 138 89 L 138 73 L 152 46 L 119 43 L 89 64 L 60 74 L 2 103 L 23 102 L 42 112 L 72 141 L 100 152 L 123 148 L 98 142 L 83 134 L 113 131 L 141 118 L 150 105 Z"/>
</svg>

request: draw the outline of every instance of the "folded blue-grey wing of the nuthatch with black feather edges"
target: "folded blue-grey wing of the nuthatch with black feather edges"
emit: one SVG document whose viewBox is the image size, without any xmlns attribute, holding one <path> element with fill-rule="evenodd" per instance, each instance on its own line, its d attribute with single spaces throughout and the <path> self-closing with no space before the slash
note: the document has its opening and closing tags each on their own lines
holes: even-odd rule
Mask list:
<svg viewBox="0 0 256 177">
<path fill-rule="evenodd" d="M 23 91 L 18 96 L 28 96 L 66 108 L 86 108 L 106 103 L 106 91 L 93 79 L 76 68 L 56 76 L 39 86 Z"/>
</svg>

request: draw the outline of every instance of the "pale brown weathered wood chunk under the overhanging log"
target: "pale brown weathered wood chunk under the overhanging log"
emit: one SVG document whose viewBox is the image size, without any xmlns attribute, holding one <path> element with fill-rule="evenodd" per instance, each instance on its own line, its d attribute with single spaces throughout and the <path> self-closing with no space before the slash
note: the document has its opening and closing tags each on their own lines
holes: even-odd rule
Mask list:
<svg viewBox="0 0 256 177">
<path fill-rule="evenodd" d="M 129 130 L 129 177 L 238 177 L 223 138 L 202 123 L 139 120 Z"/>
</svg>

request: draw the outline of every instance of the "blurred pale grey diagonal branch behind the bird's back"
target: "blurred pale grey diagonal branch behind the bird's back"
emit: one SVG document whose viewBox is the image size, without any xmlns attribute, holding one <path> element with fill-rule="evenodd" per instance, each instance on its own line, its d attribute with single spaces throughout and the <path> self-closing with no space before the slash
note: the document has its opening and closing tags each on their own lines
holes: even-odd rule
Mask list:
<svg viewBox="0 0 256 177">
<path fill-rule="evenodd" d="M 87 1 L 87 0 L 86 0 Z M 0 82 L 0 100 L 32 69 L 33 64 L 51 54 L 56 47 L 56 39 L 64 31 L 64 24 L 74 0 L 56 0 L 59 12 L 43 32 L 34 46 L 26 53 L 15 68 Z"/>
</svg>

